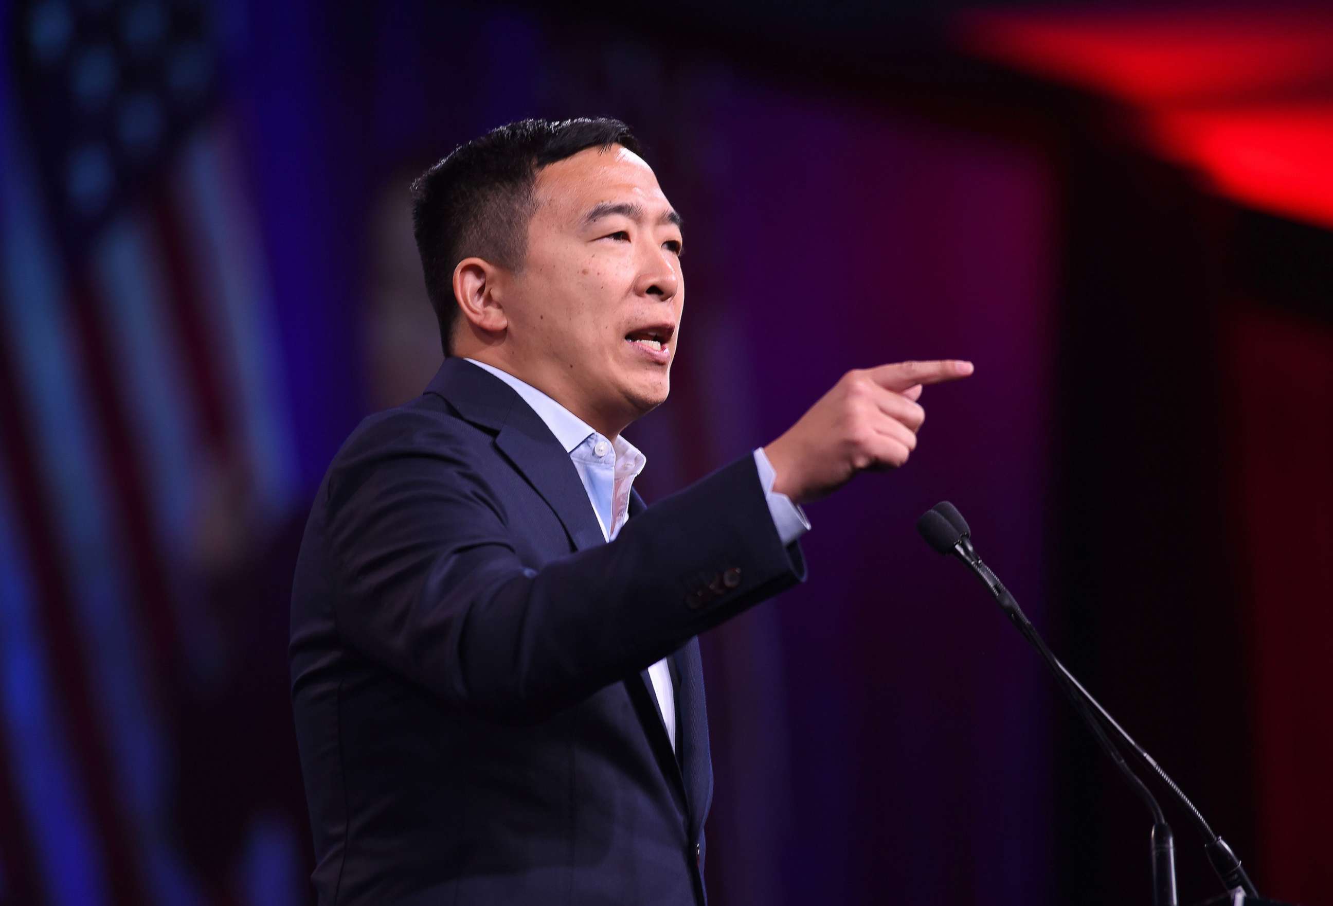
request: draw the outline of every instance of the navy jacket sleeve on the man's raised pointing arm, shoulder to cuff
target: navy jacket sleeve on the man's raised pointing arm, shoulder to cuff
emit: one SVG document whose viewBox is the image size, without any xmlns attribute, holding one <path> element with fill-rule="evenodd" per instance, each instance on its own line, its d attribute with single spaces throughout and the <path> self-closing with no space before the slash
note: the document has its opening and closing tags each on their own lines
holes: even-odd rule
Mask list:
<svg viewBox="0 0 1333 906">
<path fill-rule="evenodd" d="M 460 443 L 360 447 L 325 486 L 337 631 L 480 715 L 541 719 L 805 578 L 749 454 L 535 570 Z"/>
</svg>

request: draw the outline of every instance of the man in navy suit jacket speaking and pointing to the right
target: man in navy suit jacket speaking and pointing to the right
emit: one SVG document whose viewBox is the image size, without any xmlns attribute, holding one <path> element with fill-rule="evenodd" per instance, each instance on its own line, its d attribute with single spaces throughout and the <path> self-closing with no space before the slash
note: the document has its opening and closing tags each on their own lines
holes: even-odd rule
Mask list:
<svg viewBox="0 0 1333 906">
<path fill-rule="evenodd" d="M 697 636 L 804 579 L 800 504 L 916 448 L 924 384 L 848 372 L 652 507 L 621 432 L 666 399 L 681 217 L 616 120 L 528 120 L 413 185 L 445 360 L 311 512 L 292 702 L 321 903 L 705 903 Z"/>
</svg>

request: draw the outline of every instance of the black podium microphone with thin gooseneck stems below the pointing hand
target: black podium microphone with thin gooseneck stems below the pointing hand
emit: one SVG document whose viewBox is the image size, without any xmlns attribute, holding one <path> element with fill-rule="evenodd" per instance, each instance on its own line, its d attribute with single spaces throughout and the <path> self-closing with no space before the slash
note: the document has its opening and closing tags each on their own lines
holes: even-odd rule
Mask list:
<svg viewBox="0 0 1333 906">
<path fill-rule="evenodd" d="M 1176 797 L 1176 801 L 1185 806 L 1185 810 L 1193 819 L 1194 826 L 1198 827 L 1200 833 L 1204 835 L 1204 850 L 1208 854 L 1208 862 L 1213 866 L 1213 871 L 1217 873 L 1222 886 L 1226 887 L 1226 893 L 1232 895 L 1245 894 L 1248 897 L 1258 897 L 1249 875 L 1246 875 L 1245 869 L 1241 867 L 1240 859 L 1236 858 L 1230 846 L 1228 846 L 1221 837 L 1213 833 L 1213 829 L 1209 827 L 1206 821 L 1204 821 L 1204 815 L 1194 807 L 1194 803 L 1190 802 L 1184 793 L 1181 793 L 1180 787 L 1176 786 L 1174 781 L 1166 775 L 1166 771 L 1164 771 L 1161 766 L 1153 761 L 1152 755 L 1149 755 L 1142 746 L 1134 742 L 1134 739 L 1125 733 L 1124 727 L 1121 727 L 1114 718 L 1106 713 L 1106 709 L 1104 709 L 1101 703 L 1092 697 L 1092 693 L 1084 689 L 1082 685 L 1074 679 L 1073 674 L 1070 674 L 1065 666 L 1060 663 L 1058 658 L 1050 652 L 1050 648 L 1046 647 L 1046 643 L 1037 634 L 1036 627 L 1018 608 L 1018 602 L 1014 600 L 1013 595 L 1010 595 L 1004 587 L 998 576 L 990 571 L 990 567 L 982 563 L 981 558 L 977 556 L 976 550 L 972 547 L 972 531 L 968 528 L 968 523 L 962 518 L 962 514 L 958 512 L 958 510 L 948 500 L 937 503 L 917 520 L 917 531 L 921 532 L 921 536 L 925 538 L 930 547 L 940 554 L 953 554 L 961 559 L 977 578 L 981 579 L 982 584 L 985 584 L 990 594 L 994 595 L 996 600 L 1000 602 L 1000 607 L 1009 616 L 1010 622 L 1018 627 L 1022 636 L 1028 639 L 1034 648 L 1037 648 L 1038 654 L 1041 654 L 1046 666 L 1050 667 L 1054 674 L 1056 682 L 1060 683 L 1060 686 L 1069 695 L 1070 701 L 1073 701 L 1074 707 L 1088 722 L 1089 727 L 1092 727 L 1093 734 L 1097 737 L 1098 742 L 1102 743 L 1102 749 L 1106 750 L 1106 754 L 1112 757 L 1116 765 L 1125 774 L 1130 786 L 1134 786 L 1136 791 L 1140 791 L 1140 797 L 1146 797 L 1145 802 L 1152 799 L 1152 794 L 1148 793 L 1148 787 L 1144 786 L 1142 781 L 1138 779 L 1138 777 L 1125 763 L 1124 758 L 1121 758 L 1120 751 L 1106 738 L 1100 722 L 1096 717 L 1093 717 L 1089 707 L 1096 709 L 1097 714 L 1101 715 L 1101 719 L 1106 722 L 1106 726 L 1109 726 L 1125 745 L 1133 749 L 1145 765 L 1153 769 L 1157 777 L 1166 785 L 1166 789 L 1170 790 L 1172 795 Z M 1154 902 L 1158 902 L 1158 895 L 1166 895 L 1166 882 L 1162 877 L 1162 873 L 1165 871 L 1170 873 L 1169 895 L 1172 899 L 1169 902 L 1174 902 L 1176 879 L 1174 857 L 1170 854 L 1170 829 L 1166 827 L 1165 834 L 1160 839 L 1157 830 L 1158 825 L 1165 826 L 1165 821 L 1161 819 L 1161 809 L 1157 806 L 1156 801 L 1149 803 L 1149 809 L 1153 811 Z"/>
</svg>

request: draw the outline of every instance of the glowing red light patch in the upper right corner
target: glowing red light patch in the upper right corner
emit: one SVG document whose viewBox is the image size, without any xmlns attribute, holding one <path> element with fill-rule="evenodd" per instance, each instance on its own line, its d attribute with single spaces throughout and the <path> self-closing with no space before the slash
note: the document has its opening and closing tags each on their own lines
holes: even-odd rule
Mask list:
<svg viewBox="0 0 1333 906">
<path fill-rule="evenodd" d="M 1216 191 L 1333 227 L 1333 13 L 986 13 L 960 39 L 1141 111 Z"/>
</svg>

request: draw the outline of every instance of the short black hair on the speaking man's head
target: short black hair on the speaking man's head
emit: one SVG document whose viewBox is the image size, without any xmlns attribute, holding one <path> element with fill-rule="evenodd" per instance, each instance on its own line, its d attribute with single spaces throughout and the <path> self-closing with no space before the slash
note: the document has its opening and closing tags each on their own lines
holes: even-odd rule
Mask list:
<svg viewBox="0 0 1333 906">
<path fill-rule="evenodd" d="M 453 298 L 459 262 L 481 258 L 520 270 L 537 171 L 585 148 L 613 144 L 641 153 L 620 120 L 520 120 L 459 145 L 412 183 L 412 232 L 445 356 L 453 352 L 451 334 L 459 315 Z"/>
</svg>

